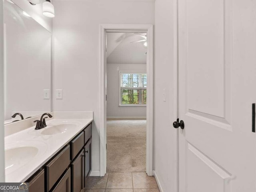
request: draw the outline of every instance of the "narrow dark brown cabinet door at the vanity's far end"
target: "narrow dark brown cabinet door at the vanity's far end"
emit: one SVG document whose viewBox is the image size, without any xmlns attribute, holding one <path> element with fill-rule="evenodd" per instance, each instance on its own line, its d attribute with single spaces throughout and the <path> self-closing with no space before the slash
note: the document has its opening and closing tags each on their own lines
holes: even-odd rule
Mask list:
<svg viewBox="0 0 256 192">
<path fill-rule="evenodd" d="M 92 170 L 92 140 L 90 139 L 84 147 L 85 153 L 85 172 L 84 172 L 84 186 L 86 186 L 87 179 Z"/>
</svg>

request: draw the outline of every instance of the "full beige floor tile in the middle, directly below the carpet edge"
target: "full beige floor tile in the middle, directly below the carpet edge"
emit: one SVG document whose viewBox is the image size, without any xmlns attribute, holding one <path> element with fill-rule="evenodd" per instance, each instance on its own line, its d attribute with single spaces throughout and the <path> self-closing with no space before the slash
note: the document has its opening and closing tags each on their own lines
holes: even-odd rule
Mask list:
<svg viewBox="0 0 256 192">
<path fill-rule="evenodd" d="M 107 189 L 132 189 L 132 173 L 131 172 L 109 173 Z"/>
</svg>

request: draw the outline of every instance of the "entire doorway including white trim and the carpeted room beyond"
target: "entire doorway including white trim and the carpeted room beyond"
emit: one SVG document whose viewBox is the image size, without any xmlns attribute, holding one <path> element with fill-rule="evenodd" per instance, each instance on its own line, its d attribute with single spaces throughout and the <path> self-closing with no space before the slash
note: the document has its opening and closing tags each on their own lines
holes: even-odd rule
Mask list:
<svg viewBox="0 0 256 192">
<path fill-rule="evenodd" d="M 109 42 L 111 38 L 114 39 L 113 42 Z M 141 58 L 146 58 L 146 62 L 143 63 L 141 58 L 130 57 L 128 50 L 126 53 L 118 53 L 125 42 L 128 42 L 128 46 L 135 47 L 142 44 L 144 50 Z M 116 50 L 118 46 L 120 47 Z M 130 64 L 122 63 L 123 59 L 130 60 Z M 138 60 L 136 64 L 132 59 Z M 104 176 L 107 169 L 110 172 L 146 171 L 148 176 L 152 176 L 153 26 L 100 25 L 100 72 L 100 176 Z M 109 82 L 110 80 L 114 83 Z M 107 102 L 110 102 L 108 108 Z M 110 142 L 110 146 L 107 142 Z M 121 143 L 123 147 L 120 146 Z M 134 154 L 132 145 L 137 150 Z M 110 152 L 107 153 L 107 150 Z M 140 154 L 143 150 L 144 154 L 146 152 L 144 156 Z"/>
</svg>

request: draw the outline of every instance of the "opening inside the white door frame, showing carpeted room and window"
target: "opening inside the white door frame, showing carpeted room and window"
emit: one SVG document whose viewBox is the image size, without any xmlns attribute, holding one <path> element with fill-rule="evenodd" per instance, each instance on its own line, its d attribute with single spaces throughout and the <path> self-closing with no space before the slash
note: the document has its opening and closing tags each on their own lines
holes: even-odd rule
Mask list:
<svg viewBox="0 0 256 192">
<path fill-rule="evenodd" d="M 147 34 L 107 32 L 107 172 L 146 172 Z"/>
</svg>

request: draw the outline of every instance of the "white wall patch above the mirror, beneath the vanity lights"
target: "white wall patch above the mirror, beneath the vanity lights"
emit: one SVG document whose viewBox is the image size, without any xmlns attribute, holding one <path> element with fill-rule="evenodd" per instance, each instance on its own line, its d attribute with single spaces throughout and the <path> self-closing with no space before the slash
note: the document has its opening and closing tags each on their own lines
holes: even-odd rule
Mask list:
<svg viewBox="0 0 256 192">
<path fill-rule="evenodd" d="M 46 17 L 42 14 L 42 4 L 45 2 L 41 1 L 40 4 L 31 5 L 28 0 L 12 0 L 22 10 L 28 13 L 34 20 L 40 23 L 48 31 L 52 32 L 52 18 Z M 53 0 L 51 0 L 53 2 Z"/>
</svg>

